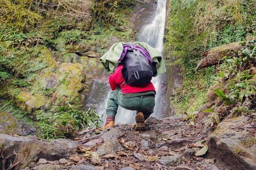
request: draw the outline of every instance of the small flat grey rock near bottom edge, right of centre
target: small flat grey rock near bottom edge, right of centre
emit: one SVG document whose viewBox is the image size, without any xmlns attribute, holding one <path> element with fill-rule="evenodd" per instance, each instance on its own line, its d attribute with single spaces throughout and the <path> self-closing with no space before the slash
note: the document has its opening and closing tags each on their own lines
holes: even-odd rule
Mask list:
<svg viewBox="0 0 256 170">
<path fill-rule="evenodd" d="M 181 157 L 178 155 L 162 156 L 160 159 L 156 159 L 155 162 L 167 167 L 176 167 L 177 164 L 181 163 Z"/>
</svg>

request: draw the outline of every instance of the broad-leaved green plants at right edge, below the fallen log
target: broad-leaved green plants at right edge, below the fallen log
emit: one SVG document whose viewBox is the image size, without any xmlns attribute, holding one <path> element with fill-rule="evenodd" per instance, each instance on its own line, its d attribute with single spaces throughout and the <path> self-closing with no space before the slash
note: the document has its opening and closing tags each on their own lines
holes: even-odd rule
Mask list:
<svg viewBox="0 0 256 170">
<path fill-rule="evenodd" d="M 228 91 L 228 94 L 225 95 L 224 92 L 218 89 L 214 90 L 225 104 L 236 103 L 241 107 L 237 111 L 242 112 L 245 111 L 242 104 L 246 97 L 250 100 L 256 94 L 256 82 L 252 79 L 254 76 L 250 74 L 250 65 L 255 62 L 256 58 L 256 40 L 247 41 L 246 46 L 241 52 L 233 52 L 234 56 L 232 58 L 223 58 L 222 72 L 225 71 L 229 79 L 222 85 Z"/>
</svg>

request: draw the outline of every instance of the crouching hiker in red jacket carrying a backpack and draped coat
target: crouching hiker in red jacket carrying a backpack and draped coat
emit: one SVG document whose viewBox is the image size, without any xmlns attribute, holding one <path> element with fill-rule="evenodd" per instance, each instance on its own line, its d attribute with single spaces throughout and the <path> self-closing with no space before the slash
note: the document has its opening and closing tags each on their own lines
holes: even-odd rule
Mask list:
<svg viewBox="0 0 256 170">
<path fill-rule="evenodd" d="M 150 117 L 150 114 L 154 111 L 156 91 L 154 85 L 150 82 L 151 78 L 146 78 L 135 83 L 130 83 L 129 78 L 127 78 L 124 70 L 127 69 L 126 71 L 128 73 L 130 71 L 129 66 L 126 66 L 125 63 L 127 60 L 126 58 L 129 58 L 127 57 L 129 54 L 133 57 L 134 54 L 141 56 L 139 57 L 139 61 L 143 63 L 141 59 L 144 59 L 144 65 L 148 65 L 149 63 L 149 66 L 144 67 L 152 68 L 152 70 L 150 69 L 152 71 L 151 78 L 152 76 L 159 75 L 166 71 L 162 54 L 145 42 L 118 42 L 117 44 L 114 44 L 110 50 L 100 58 L 105 69 L 109 73 L 112 73 L 109 76 L 112 92 L 108 99 L 106 108 L 107 118 L 103 130 L 114 128 L 114 120 L 118 106 L 131 111 L 137 111 L 137 115 L 135 116 L 135 130 L 137 131 L 146 130 L 144 121 Z M 154 68 L 155 71 L 153 71 Z M 138 71 L 135 72 L 136 79 L 139 79 L 142 75 L 139 74 Z M 148 72 L 150 71 L 144 71 L 144 73 Z"/>
</svg>

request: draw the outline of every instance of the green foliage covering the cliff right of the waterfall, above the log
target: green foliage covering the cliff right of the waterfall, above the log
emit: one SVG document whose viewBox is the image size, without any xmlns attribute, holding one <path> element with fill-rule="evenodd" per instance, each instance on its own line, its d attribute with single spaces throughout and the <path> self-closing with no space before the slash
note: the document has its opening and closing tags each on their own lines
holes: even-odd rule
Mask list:
<svg viewBox="0 0 256 170">
<path fill-rule="evenodd" d="M 203 94 L 214 80 L 214 67 L 197 72 L 201 54 L 216 46 L 245 40 L 256 34 L 256 4 L 248 1 L 173 0 L 169 3 L 165 35 L 165 56 L 171 56 L 179 65 L 183 85 L 171 97 L 177 114 L 196 111 Z M 223 74 L 224 73 L 224 74 Z M 221 77 L 227 76 L 225 71 Z M 205 101 L 203 101 L 204 104 Z M 227 99 L 228 102 L 228 99 Z M 199 108 L 200 109 L 200 108 Z M 197 110 L 198 111 L 198 110 Z"/>
</svg>

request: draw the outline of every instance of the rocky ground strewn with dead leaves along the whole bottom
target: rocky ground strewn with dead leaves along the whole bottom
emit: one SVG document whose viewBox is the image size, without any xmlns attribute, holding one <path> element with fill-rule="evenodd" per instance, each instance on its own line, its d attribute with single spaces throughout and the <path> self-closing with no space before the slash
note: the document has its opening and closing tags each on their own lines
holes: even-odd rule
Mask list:
<svg viewBox="0 0 256 170">
<path fill-rule="evenodd" d="M 2 169 L 255 169 L 255 120 L 237 117 L 203 135 L 182 117 L 84 129 L 74 140 L 0 134 Z M 251 139 L 251 141 L 250 141 Z M 253 142 L 254 139 L 254 142 Z M 250 143 L 251 142 L 251 143 Z"/>
</svg>

